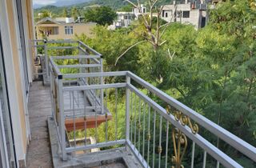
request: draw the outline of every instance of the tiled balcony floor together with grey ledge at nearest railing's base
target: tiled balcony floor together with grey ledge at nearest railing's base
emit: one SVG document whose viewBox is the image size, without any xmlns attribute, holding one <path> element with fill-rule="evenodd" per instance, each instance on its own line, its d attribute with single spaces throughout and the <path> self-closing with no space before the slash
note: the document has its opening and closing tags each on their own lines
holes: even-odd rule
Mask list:
<svg viewBox="0 0 256 168">
<path fill-rule="evenodd" d="M 59 158 L 60 151 L 57 150 L 58 146 L 54 142 L 57 140 L 53 136 L 53 131 L 56 131 L 53 128 L 55 125 L 49 122 L 51 116 L 50 87 L 43 86 L 42 82 L 33 82 L 30 86 L 29 115 L 31 141 L 26 158 L 28 168 L 50 168 L 54 165 L 55 167 L 94 168 L 142 167 L 134 154 L 126 147 L 76 155 L 74 159 L 62 162 Z"/>
</svg>

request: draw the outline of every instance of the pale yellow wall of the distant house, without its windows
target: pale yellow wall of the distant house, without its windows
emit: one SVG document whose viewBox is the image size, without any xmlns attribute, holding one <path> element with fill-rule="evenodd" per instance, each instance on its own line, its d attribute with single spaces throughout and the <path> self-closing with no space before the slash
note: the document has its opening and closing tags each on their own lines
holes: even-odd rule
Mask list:
<svg viewBox="0 0 256 168">
<path fill-rule="evenodd" d="M 92 37 L 92 29 L 96 26 L 96 23 L 67 23 L 67 24 L 40 24 L 36 26 L 36 31 L 38 34 L 38 39 L 42 39 L 42 34 L 40 34 L 41 29 L 46 27 L 58 26 L 58 34 L 50 34 L 47 38 L 52 40 L 57 39 L 70 39 L 74 38 L 75 34 L 81 35 L 86 34 L 88 37 Z M 65 26 L 73 26 L 73 34 L 65 34 Z"/>
</svg>

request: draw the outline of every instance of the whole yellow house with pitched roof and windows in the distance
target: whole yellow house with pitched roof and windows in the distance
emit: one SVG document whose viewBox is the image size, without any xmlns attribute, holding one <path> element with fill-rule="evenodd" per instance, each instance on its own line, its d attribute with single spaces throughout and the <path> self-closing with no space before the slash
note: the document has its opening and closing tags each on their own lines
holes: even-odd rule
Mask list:
<svg viewBox="0 0 256 168">
<path fill-rule="evenodd" d="M 90 37 L 94 26 L 96 23 L 82 23 L 80 18 L 76 22 L 74 18 L 43 18 L 36 23 L 36 34 L 38 39 L 52 40 L 74 38 L 75 34 L 86 34 Z"/>
</svg>

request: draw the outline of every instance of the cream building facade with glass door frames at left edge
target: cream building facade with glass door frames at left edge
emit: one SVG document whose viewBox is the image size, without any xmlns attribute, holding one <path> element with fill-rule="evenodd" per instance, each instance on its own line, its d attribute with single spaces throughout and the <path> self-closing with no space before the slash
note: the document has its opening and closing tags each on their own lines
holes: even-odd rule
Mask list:
<svg viewBox="0 0 256 168">
<path fill-rule="evenodd" d="M 32 0 L 0 1 L 0 167 L 26 167 L 33 74 Z"/>
</svg>

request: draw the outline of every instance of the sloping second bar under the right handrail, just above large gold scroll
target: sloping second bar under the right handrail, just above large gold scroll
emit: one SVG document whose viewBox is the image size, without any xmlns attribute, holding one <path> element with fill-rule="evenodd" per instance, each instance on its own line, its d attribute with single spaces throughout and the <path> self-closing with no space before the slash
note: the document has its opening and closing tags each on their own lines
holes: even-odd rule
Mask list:
<svg viewBox="0 0 256 168">
<path fill-rule="evenodd" d="M 208 154 L 211 154 L 213 158 L 222 163 L 223 166 L 227 167 L 242 167 L 237 162 L 235 162 L 232 158 L 224 154 L 221 150 L 219 150 L 216 146 L 212 145 L 205 138 L 203 138 L 199 134 L 193 134 L 188 126 L 182 126 L 180 122 L 177 122 L 173 115 L 167 114 L 166 110 L 159 106 L 152 99 L 147 97 L 145 94 L 142 94 L 140 90 L 132 86 L 131 84 L 127 84 L 127 87 L 134 91 L 135 94 L 138 95 L 139 98 L 142 98 L 146 103 L 154 108 L 158 112 L 158 114 L 162 115 L 162 117 L 166 118 L 167 121 L 172 123 L 178 130 L 181 130 L 182 133 L 186 134 L 188 138 L 194 141 L 198 146 L 202 147 L 202 149 L 206 150 Z"/>
</svg>

